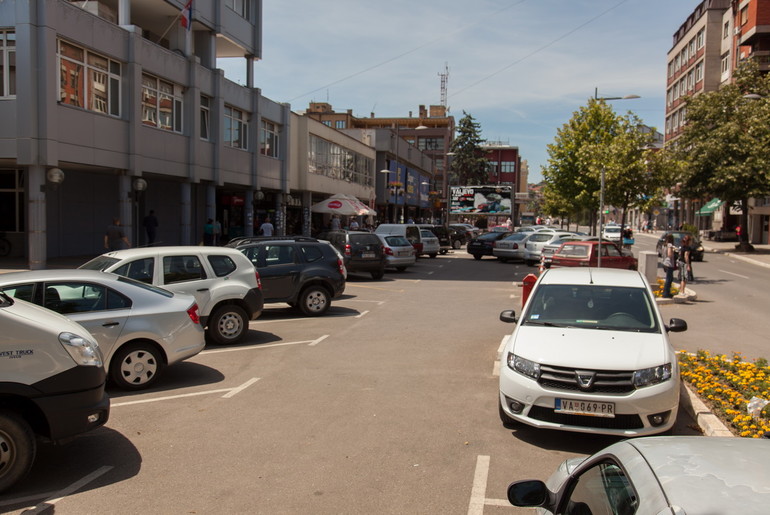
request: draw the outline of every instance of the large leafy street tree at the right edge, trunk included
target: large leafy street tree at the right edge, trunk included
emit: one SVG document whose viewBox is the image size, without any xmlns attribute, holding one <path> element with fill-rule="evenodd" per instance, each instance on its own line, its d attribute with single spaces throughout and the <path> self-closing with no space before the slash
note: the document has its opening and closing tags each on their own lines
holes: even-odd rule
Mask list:
<svg viewBox="0 0 770 515">
<path fill-rule="evenodd" d="M 770 195 L 770 75 L 752 60 L 735 82 L 688 97 L 684 130 L 667 149 L 669 165 L 690 198 L 718 197 L 741 211 L 741 250 L 748 242 L 750 197 Z"/>
</svg>

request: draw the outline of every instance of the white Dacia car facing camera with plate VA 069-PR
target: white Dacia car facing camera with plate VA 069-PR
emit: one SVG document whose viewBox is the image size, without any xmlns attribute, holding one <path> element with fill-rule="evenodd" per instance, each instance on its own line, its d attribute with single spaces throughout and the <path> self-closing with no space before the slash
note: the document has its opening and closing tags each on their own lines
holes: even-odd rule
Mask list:
<svg viewBox="0 0 770 515">
<path fill-rule="evenodd" d="M 504 425 L 642 436 L 667 431 L 679 407 L 679 366 L 644 276 L 551 268 L 530 293 L 500 366 Z"/>
</svg>

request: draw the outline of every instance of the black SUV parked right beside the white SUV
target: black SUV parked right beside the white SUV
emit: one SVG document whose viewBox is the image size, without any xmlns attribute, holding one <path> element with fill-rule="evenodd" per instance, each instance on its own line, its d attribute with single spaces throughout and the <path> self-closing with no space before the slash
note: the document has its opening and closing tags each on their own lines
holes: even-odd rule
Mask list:
<svg viewBox="0 0 770 515">
<path fill-rule="evenodd" d="M 240 238 L 228 243 L 259 272 L 265 302 L 287 302 L 307 316 L 323 315 L 345 291 L 342 256 L 304 236 Z"/>
</svg>

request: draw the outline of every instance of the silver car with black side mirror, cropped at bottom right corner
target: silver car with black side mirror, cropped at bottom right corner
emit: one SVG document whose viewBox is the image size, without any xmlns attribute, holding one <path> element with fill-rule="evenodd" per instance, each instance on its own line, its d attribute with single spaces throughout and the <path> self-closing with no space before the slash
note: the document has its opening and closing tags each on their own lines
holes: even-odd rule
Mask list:
<svg viewBox="0 0 770 515">
<path fill-rule="evenodd" d="M 752 438 L 653 436 L 563 462 L 546 482 L 511 483 L 541 513 L 767 513 L 770 445 Z"/>
</svg>

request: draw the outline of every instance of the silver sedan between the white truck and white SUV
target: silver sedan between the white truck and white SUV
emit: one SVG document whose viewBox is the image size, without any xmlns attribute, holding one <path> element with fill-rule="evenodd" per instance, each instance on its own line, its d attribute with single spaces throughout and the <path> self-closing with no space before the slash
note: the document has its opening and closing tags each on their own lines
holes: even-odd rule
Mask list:
<svg viewBox="0 0 770 515">
<path fill-rule="evenodd" d="M 112 382 L 149 388 L 168 365 L 206 345 L 195 297 L 95 270 L 0 274 L 0 291 L 50 309 L 88 330 Z"/>
</svg>

